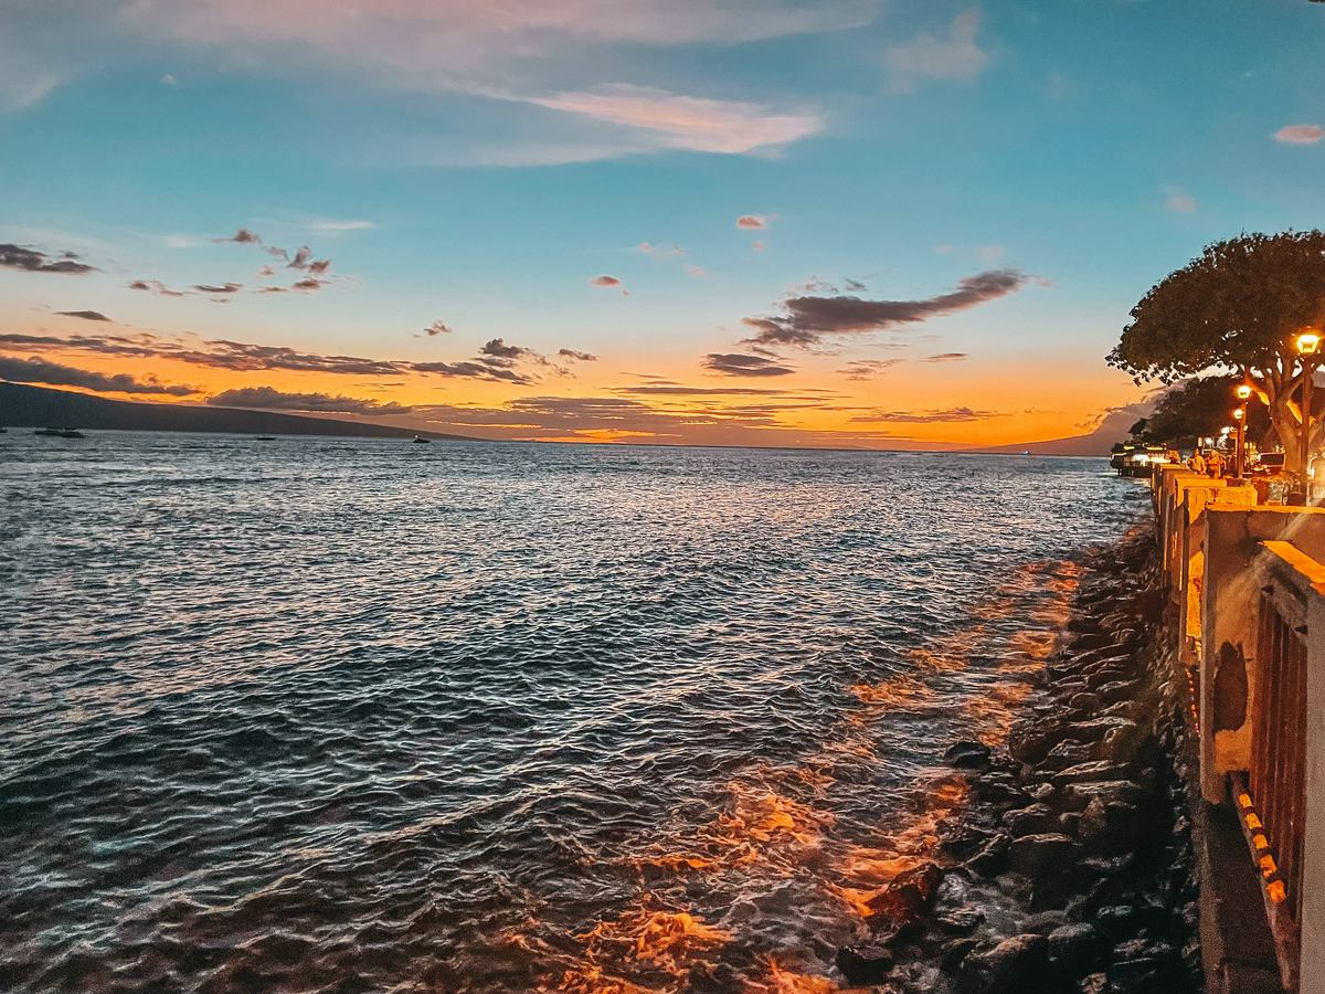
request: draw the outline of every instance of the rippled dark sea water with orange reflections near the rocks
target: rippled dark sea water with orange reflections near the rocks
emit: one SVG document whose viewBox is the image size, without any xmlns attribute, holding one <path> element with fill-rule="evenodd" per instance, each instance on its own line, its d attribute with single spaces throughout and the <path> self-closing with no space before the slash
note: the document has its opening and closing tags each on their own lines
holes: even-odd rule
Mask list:
<svg viewBox="0 0 1325 994">
<path fill-rule="evenodd" d="M 0 989 L 833 990 L 1104 460 L 0 436 Z"/>
</svg>

